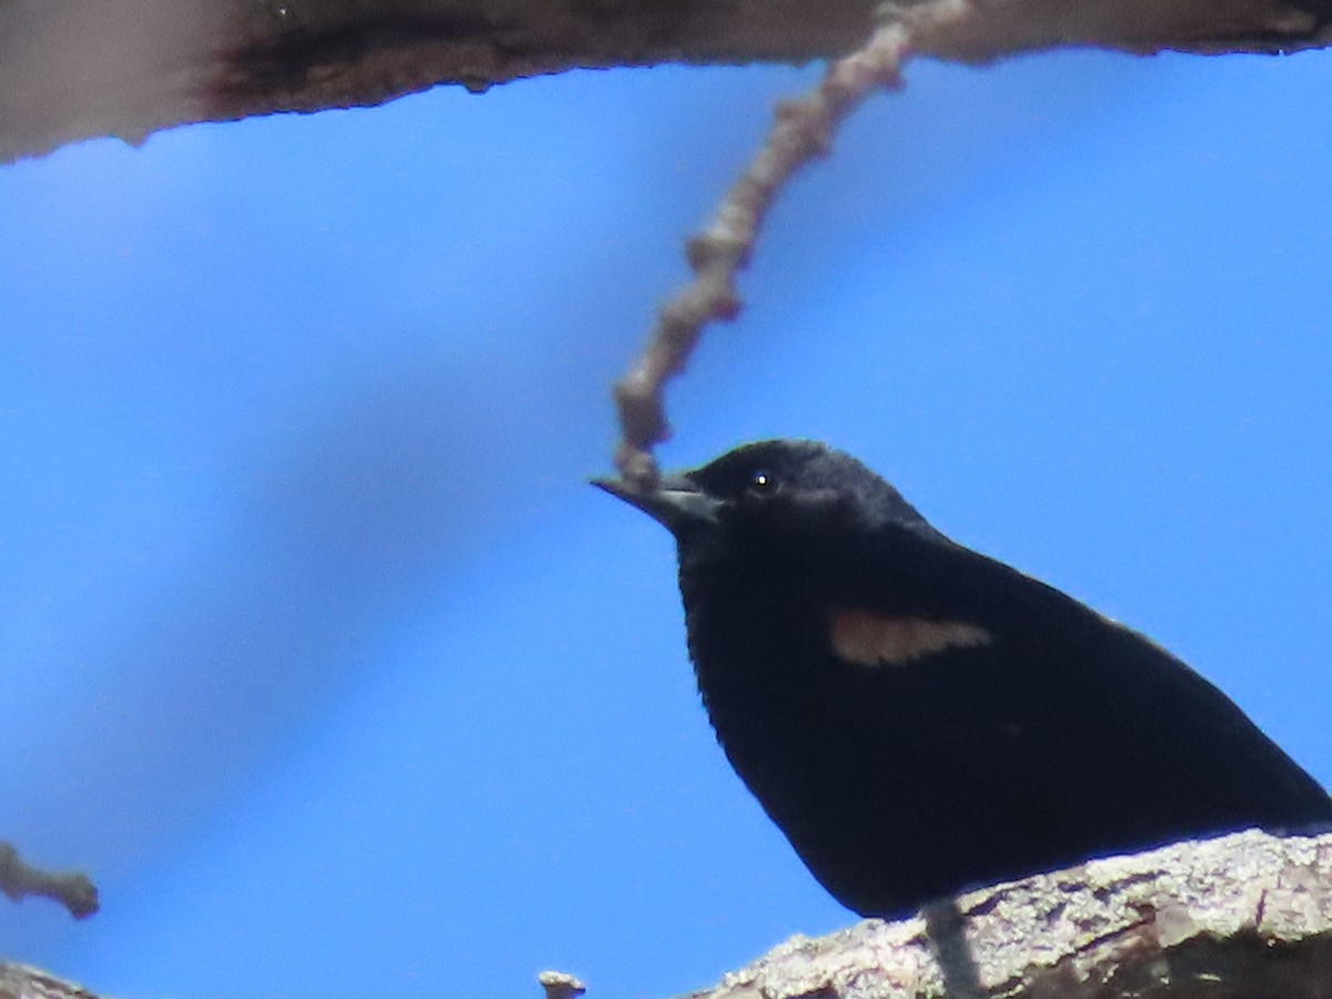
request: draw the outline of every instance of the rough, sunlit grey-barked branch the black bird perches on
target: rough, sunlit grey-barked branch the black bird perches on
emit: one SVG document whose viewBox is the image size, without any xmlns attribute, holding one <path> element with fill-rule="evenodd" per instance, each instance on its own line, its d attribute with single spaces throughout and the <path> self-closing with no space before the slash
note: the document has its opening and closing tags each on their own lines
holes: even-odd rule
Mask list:
<svg viewBox="0 0 1332 999">
<path fill-rule="evenodd" d="M 1332 835 L 1180 843 L 975 891 L 959 907 L 983 996 L 1332 996 Z M 944 995 L 915 918 L 794 938 L 691 999 Z"/>
</svg>

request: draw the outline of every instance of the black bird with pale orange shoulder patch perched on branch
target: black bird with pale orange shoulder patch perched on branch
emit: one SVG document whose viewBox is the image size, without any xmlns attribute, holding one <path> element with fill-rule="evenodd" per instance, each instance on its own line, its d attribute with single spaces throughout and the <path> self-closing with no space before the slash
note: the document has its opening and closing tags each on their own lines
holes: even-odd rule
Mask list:
<svg viewBox="0 0 1332 999">
<path fill-rule="evenodd" d="M 689 650 L 735 771 L 862 915 L 1332 799 L 1143 635 L 950 541 L 822 444 L 751 444 L 655 489 Z"/>
</svg>

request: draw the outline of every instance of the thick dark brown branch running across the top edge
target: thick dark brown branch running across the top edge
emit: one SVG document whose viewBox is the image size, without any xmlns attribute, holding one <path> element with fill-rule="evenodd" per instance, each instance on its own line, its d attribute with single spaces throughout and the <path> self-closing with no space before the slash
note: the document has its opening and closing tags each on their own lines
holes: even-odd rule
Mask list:
<svg viewBox="0 0 1332 999">
<path fill-rule="evenodd" d="M 919 0 L 902 0 L 910 7 Z M 438 83 L 577 67 L 842 55 L 879 0 L 0 0 L 0 163 L 92 136 L 378 104 Z M 1323 45 L 1332 0 L 974 0 L 918 47 L 988 60 L 1050 45 Z"/>
</svg>

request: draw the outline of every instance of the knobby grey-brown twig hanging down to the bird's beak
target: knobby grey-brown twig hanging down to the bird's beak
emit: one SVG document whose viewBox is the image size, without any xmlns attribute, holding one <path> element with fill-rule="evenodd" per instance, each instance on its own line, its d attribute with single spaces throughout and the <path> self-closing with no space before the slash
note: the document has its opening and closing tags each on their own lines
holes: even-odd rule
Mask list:
<svg viewBox="0 0 1332 999">
<path fill-rule="evenodd" d="M 749 264 L 758 229 L 782 186 L 801 166 L 827 153 L 838 125 L 870 93 L 900 87 L 902 64 L 918 37 L 956 23 L 967 11 L 968 0 L 886 5 L 882 25 L 862 48 L 832 63 L 807 96 L 778 104 L 763 147 L 726 192 L 711 224 L 689 241 L 694 280 L 662 306 L 642 357 L 615 382 L 622 434 L 615 466 L 627 481 L 655 482 L 651 452 L 670 436 L 665 385 L 683 370 L 707 322 L 739 314 L 735 274 Z"/>
</svg>

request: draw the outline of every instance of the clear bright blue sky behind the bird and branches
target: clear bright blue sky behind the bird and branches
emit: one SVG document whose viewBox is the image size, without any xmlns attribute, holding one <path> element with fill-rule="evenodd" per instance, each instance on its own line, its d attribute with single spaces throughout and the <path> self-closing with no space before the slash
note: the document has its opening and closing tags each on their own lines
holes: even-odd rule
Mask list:
<svg viewBox="0 0 1332 999">
<path fill-rule="evenodd" d="M 669 538 L 585 485 L 682 237 L 815 72 L 0 168 L 0 835 L 105 903 L 0 908 L 0 955 L 123 996 L 650 996 L 852 919 L 713 743 Z M 1332 56 L 908 81 L 774 212 L 665 464 L 846 448 L 1332 782 Z"/>
</svg>

